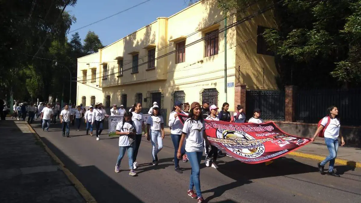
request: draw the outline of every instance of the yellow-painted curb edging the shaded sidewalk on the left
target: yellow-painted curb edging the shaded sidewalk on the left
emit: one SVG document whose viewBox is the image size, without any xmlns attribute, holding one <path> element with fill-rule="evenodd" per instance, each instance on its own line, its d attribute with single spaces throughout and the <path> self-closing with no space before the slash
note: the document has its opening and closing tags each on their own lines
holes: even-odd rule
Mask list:
<svg viewBox="0 0 361 203">
<path fill-rule="evenodd" d="M 42 139 L 40 139 L 40 136 L 38 135 L 38 133 L 35 132 L 35 130 L 32 128 L 31 125 L 26 124 L 28 126 L 28 128 L 30 129 L 31 133 L 35 135 L 35 138 L 42 142 L 45 151 L 59 164 L 59 168 L 65 173 L 65 175 L 69 178 L 70 182 L 72 182 L 75 186 L 75 188 L 78 190 L 78 192 L 80 193 L 80 195 L 83 196 L 83 198 L 85 199 L 85 201 L 87 203 L 97 203 L 95 198 L 89 193 L 89 191 L 84 187 L 84 185 L 78 180 L 78 178 L 76 178 L 74 176 L 73 173 L 70 172 L 69 169 L 65 168 L 64 163 L 62 163 L 62 161 L 49 149 L 48 146 L 46 146 L 46 144 L 42 141 Z"/>
</svg>

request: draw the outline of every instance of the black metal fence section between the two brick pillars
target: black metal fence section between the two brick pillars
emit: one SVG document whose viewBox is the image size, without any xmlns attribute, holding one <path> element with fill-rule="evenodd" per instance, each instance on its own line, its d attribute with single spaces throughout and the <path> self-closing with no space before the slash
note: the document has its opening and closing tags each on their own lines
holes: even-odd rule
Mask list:
<svg viewBox="0 0 361 203">
<path fill-rule="evenodd" d="M 247 90 L 246 117 L 253 116 L 255 108 L 261 109 L 263 120 L 284 120 L 285 94 L 282 90 Z"/>
</svg>

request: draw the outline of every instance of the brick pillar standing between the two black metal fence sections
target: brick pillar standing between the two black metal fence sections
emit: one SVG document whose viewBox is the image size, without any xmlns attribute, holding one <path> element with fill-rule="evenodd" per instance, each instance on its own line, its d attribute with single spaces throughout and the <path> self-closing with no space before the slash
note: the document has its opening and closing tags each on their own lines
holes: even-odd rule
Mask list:
<svg viewBox="0 0 361 203">
<path fill-rule="evenodd" d="M 284 120 L 288 122 L 295 122 L 295 115 L 296 115 L 296 93 L 297 87 L 290 85 L 285 87 L 285 115 Z"/>
</svg>

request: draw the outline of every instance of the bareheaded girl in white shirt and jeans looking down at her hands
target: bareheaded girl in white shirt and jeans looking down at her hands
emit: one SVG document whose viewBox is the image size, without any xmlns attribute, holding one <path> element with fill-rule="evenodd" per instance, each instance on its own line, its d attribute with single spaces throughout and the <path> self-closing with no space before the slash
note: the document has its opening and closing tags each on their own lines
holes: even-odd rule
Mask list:
<svg viewBox="0 0 361 203">
<path fill-rule="evenodd" d="M 132 113 L 126 112 L 123 120 L 119 121 L 116 128 L 116 134 L 119 135 L 119 156 L 117 163 L 115 164 L 115 172 L 119 173 L 120 163 L 125 155 L 125 151 L 128 150 L 128 161 L 129 161 L 129 175 L 136 176 L 133 167 L 133 155 L 135 148 L 135 126 L 132 121 Z"/>
</svg>

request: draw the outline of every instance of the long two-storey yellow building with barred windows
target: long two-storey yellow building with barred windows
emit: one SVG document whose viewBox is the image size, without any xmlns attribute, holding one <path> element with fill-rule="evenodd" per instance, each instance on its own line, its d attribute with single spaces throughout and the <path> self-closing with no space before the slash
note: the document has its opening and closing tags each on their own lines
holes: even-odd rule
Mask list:
<svg viewBox="0 0 361 203">
<path fill-rule="evenodd" d="M 227 102 L 235 106 L 235 83 L 277 88 L 274 57 L 260 34 L 275 27 L 272 10 L 256 4 L 227 18 Z M 235 26 L 231 26 L 235 25 Z M 78 59 L 77 104 L 106 107 L 154 101 L 167 115 L 175 100 L 225 102 L 223 13 L 217 0 L 203 0 Z"/>
</svg>

